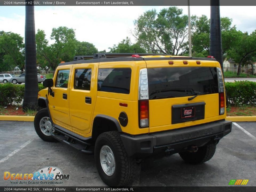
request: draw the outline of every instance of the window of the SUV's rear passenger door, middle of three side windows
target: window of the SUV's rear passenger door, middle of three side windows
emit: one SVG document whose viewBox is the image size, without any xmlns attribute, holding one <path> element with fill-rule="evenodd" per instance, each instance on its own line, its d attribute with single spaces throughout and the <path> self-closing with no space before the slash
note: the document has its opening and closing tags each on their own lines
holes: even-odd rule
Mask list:
<svg viewBox="0 0 256 192">
<path fill-rule="evenodd" d="M 90 90 L 91 69 L 76 69 L 74 89 Z"/>
</svg>

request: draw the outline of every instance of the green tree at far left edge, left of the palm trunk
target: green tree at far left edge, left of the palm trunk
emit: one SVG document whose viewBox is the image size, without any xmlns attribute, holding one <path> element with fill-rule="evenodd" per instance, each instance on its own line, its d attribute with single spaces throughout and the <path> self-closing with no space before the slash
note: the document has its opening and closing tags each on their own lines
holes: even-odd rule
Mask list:
<svg viewBox="0 0 256 192">
<path fill-rule="evenodd" d="M 24 69 L 24 43 L 23 38 L 16 33 L 0 32 L 0 64 L 5 65 L 4 70 L 13 70 L 18 66 L 21 71 Z"/>
</svg>

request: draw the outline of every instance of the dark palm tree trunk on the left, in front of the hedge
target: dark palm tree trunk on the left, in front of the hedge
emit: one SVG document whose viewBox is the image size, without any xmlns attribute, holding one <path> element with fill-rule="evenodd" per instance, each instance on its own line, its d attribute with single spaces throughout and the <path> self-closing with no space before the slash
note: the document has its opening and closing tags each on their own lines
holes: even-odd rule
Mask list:
<svg viewBox="0 0 256 192">
<path fill-rule="evenodd" d="M 27 4 L 28 5 L 28 4 Z M 25 93 L 23 111 L 37 108 L 38 79 L 35 47 L 34 6 L 26 6 L 25 18 Z"/>
</svg>

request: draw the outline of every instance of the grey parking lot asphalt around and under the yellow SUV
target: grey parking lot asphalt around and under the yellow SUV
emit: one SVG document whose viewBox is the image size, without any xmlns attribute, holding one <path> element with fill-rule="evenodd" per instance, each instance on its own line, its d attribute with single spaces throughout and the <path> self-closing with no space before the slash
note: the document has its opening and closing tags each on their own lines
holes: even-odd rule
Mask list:
<svg viewBox="0 0 256 192">
<path fill-rule="evenodd" d="M 231 179 L 249 179 L 246 186 L 256 186 L 256 122 L 237 124 L 242 129 L 233 124 L 232 132 L 221 139 L 210 161 L 190 165 L 178 154 L 148 158 L 141 163 L 133 186 L 228 186 Z M 0 121 L 0 186 L 33 186 L 5 181 L 5 171 L 34 173 L 51 166 L 70 174 L 70 178 L 62 185 L 49 186 L 106 186 L 93 155 L 65 143 L 42 141 L 33 122 Z"/>
</svg>

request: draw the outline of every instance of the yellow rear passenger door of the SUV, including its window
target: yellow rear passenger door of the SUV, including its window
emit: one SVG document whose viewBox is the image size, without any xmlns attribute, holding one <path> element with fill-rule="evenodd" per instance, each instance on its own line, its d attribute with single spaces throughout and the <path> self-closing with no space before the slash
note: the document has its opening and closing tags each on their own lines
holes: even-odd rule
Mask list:
<svg viewBox="0 0 256 192">
<path fill-rule="evenodd" d="M 90 133 L 97 96 L 96 74 L 98 63 L 73 66 L 70 84 L 70 121 L 73 131 Z"/>
</svg>

